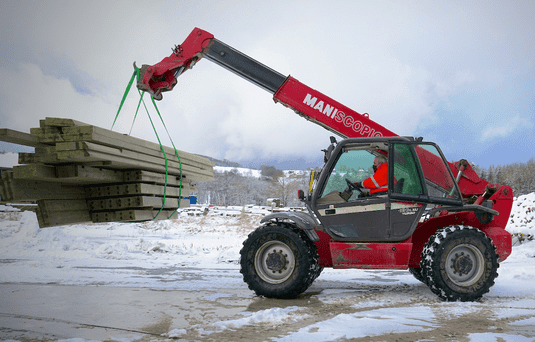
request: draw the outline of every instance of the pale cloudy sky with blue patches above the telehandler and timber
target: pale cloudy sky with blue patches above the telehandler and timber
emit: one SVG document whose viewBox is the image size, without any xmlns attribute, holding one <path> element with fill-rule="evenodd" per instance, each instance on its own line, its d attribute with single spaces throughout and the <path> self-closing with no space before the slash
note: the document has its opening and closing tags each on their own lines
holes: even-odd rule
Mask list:
<svg viewBox="0 0 535 342">
<path fill-rule="evenodd" d="M 159 62 L 200 27 L 399 135 L 437 142 L 448 160 L 526 162 L 534 18 L 532 0 L 0 0 L 0 127 L 65 117 L 109 129 L 133 62 Z M 128 133 L 138 98 L 116 130 Z M 247 165 L 321 160 L 332 135 L 208 60 L 158 105 L 179 150 Z M 156 141 L 146 117 L 132 135 Z"/>
</svg>

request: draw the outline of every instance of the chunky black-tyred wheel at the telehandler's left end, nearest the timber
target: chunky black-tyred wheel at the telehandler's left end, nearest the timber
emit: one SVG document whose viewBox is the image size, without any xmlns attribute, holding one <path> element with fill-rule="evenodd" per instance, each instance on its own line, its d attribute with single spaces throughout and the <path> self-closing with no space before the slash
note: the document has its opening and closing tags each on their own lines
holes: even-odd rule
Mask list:
<svg viewBox="0 0 535 342">
<path fill-rule="evenodd" d="M 258 296 L 295 298 L 321 273 L 316 246 L 297 227 L 257 228 L 243 243 L 240 256 L 243 280 Z"/>
</svg>

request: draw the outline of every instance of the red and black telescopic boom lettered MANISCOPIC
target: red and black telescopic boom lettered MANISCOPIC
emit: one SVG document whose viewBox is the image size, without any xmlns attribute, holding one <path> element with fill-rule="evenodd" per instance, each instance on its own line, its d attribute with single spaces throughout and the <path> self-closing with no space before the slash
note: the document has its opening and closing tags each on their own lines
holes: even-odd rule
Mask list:
<svg viewBox="0 0 535 342">
<path fill-rule="evenodd" d="M 275 102 L 280 102 L 305 119 L 344 138 L 397 136 L 370 120 L 367 113 L 357 113 L 295 78 L 276 72 L 199 28 L 195 28 L 182 45 L 176 46 L 173 53 L 160 63 L 143 65 L 137 87 L 149 92 L 154 99 L 161 100 L 162 93 L 172 90 L 176 85 L 177 77 L 203 57 L 270 92 Z M 481 179 L 466 161 L 450 163 L 450 168 L 457 176 L 464 197 L 480 196 L 492 186 L 493 192 L 498 188 Z M 512 194 L 506 194 L 508 196 Z"/>
</svg>

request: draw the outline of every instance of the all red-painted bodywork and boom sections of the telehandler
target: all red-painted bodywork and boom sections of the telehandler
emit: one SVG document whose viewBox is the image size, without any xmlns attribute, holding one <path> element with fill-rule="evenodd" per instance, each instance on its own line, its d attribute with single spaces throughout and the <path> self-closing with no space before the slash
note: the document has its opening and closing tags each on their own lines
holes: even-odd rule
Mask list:
<svg viewBox="0 0 535 342">
<path fill-rule="evenodd" d="M 148 91 L 157 100 L 161 99 L 162 92 L 173 89 L 177 83 L 176 77 L 192 68 L 203 57 L 213 38 L 212 34 L 195 28 L 182 45 L 175 47 L 169 57 L 153 66 L 142 67 L 138 88 Z M 357 113 L 291 76 L 288 76 L 275 92 L 273 100 L 344 138 L 397 136 L 372 121 L 367 113 Z M 434 164 L 436 156 L 422 149 L 418 150 L 418 154 L 425 155 L 420 158 L 425 172 L 425 164 Z M 320 241 L 316 242 L 320 265 L 335 268 L 419 267 L 420 254 L 429 237 L 436 230 L 451 225 L 479 228 L 493 240 L 500 259 L 505 260 L 512 249 L 511 236 L 505 231 L 513 203 L 511 187 L 490 184 L 480 178 L 465 160 L 449 163 L 449 167 L 454 177 L 457 177 L 459 189 L 466 202 L 491 202 L 492 208 L 500 213 L 490 223 L 482 224 L 472 211 L 442 212 L 419 223 L 409 239 L 398 243 L 335 242 L 326 233 L 317 232 L 320 237 Z M 435 177 L 437 183 L 440 183 L 440 179 L 446 179 L 441 175 L 434 175 L 433 178 Z"/>
</svg>

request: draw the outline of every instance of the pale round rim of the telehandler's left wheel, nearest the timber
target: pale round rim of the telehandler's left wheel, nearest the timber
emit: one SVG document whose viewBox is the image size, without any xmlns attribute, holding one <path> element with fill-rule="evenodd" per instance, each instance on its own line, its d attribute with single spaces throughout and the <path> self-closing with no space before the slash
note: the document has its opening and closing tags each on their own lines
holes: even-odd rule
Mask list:
<svg viewBox="0 0 535 342">
<path fill-rule="evenodd" d="M 285 243 L 268 241 L 256 252 L 254 265 L 262 280 L 270 284 L 280 284 L 292 275 L 295 257 Z"/>
</svg>

